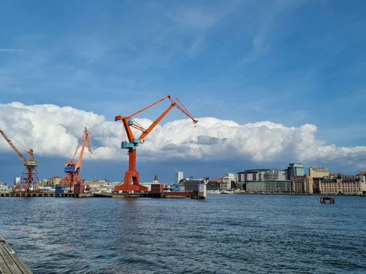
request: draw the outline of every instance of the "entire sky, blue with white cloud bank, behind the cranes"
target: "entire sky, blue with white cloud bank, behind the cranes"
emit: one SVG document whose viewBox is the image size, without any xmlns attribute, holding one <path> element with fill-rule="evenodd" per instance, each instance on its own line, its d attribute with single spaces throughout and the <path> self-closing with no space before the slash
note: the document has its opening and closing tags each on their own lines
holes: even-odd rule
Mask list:
<svg viewBox="0 0 366 274">
<path fill-rule="evenodd" d="M 171 94 L 138 147 L 140 180 L 254 168 L 366 166 L 363 0 L 0 2 L 0 129 L 63 177 L 84 127 L 83 179 L 121 181 L 127 116 Z M 169 106 L 139 114 L 148 127 Z M 22 151 L 23 152 L 23 151 Z M 24 152 L 27 155 L 26 152 Z M 23 166 L 0 140 L 0 182 Z M 352 173 L 351 173 L 352 174 Z"/>
</svg>

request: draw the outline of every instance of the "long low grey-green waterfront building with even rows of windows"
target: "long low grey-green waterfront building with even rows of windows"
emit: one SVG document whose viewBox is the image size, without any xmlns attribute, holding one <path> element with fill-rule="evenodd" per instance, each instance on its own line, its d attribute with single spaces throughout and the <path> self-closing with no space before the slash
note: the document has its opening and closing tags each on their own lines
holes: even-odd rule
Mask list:
<svg viewBox="0 0 366 274">
<path fill-rule="evenodd" d="M 289 180 L 247 182 L 247 192 L 290 193 L 291 182 Z"/>
</svg>

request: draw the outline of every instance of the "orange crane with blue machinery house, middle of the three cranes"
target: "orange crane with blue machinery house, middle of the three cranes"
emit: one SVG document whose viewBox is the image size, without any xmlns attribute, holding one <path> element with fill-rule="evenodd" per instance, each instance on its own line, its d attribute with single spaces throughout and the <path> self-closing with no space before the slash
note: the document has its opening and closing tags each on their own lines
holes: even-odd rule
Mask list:
<svg viewBox="0 0 366 274">
<path fill-rule="evenodd" d="M 83 137 L 81 137 L 81 139 L 80 139 L 79 145 L 76 148 L 74 156 L 72 156 L 71 160 L 65 164 L 65 173 L 66 174 L 62 179 L 61 185 L 64 186 L 65 183 L 70 183 L 70 190 L 74 184 L 83 183 L 83 179 L 81 179 L 79 172 L 81 170 L 81 162 L 83 160 L 84 148 L 85 148 L 85 144 L 87 142 L 88 142 L 88 148 L 89 148 L 88 151 L 89 151 L 89 153 L 93 154 L 92 148 L 91 148 L 90 135 L 91 135 L 91 133 L 87 130 L 87 128 L 85 128 Z M 81 147 L 80 155 L 79 155 L 77 163 L 75 164 L 74 158 L 75 158 L 75 155 L 78 152 L 78 149 L 82 142 L 83 142 L 83 145 Z"/>
</svg>

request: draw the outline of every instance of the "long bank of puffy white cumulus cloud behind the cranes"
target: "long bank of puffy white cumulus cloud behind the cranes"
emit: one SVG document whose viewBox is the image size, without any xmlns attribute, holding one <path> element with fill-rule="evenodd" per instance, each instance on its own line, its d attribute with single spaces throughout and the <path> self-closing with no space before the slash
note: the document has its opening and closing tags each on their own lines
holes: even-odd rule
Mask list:
<svg viewBox="0 0 366 274">
<path fill-rule="evenodd" d="M 152 123 L 148 119 L 136 120 L 145 128 Z M 126 151 L 120 149 L 122 123 L 72 107 L 0 104 L 0 129 L 33 148 L 36 156 L 70 158 L 84 127 L 92 132 L 94 160 L 127 159 Z M 190 119 L 176 120 L 157 125 L 138 147 L 138 157 L 141 161 L 178 158 L 270 163 L 281 159 L 365 164 L 365 146 L 337 147 L 316 139 L 316 130 L 311 124 L 299 128 L 267 121 L 239 125 L 206 117 L 195 127 Z M 0 141 L 0 151 L 10 151 L 4 140 Z"/>
</svg>

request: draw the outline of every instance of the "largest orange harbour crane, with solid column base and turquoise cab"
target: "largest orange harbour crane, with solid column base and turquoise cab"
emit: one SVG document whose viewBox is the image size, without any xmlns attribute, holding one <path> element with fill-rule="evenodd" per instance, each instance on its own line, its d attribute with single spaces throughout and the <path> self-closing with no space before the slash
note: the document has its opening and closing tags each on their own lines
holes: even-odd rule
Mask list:
<svg viewBox="0 0 366 274">
<path fill-rule="evenodd" d="M 148 128 L 144 129 L 139 123 L 137 123 L 132 117 L 136 114 L 143 112 L 144 110 L 156 105 L 157 103 L 169 98 L 171 101 L 170 106 L 153 122 L 153 124 Z M 128 141 L 122 141 L 121 148 L 128 149 L 128 171 L 125 172 L 124 183 L 117 185 L 114 190 L 148 190 L 148 187 L 141 185 L 139 182 L 139 173 L 136 171 L 136 147 L 144 142 L 144 138 L 148 136 L 148 134 L 157 126 L 157 124 L 161 121 L 162 118 L 173 108 L 177 107 L 184 114 L 186 114 L 189 118 L 192 119 L 193 123 L 197 123 L 198 120 L 192 117 L 192 115 L 188 112 L 188 110 L 184 107 L 181 101 L 178 98 L 167 95 L 166 97 L 158 100 L 157 102 L 131 114 L 130 116 L 116 116 L 114 121 L 122 120 L 124 130 L 126 131 Z M 139 138 L 135 138 L 131 128 L 137 129 L 142 132 Z M 133 183 L 131 184 L 131 179 Z"/>
</svg>

